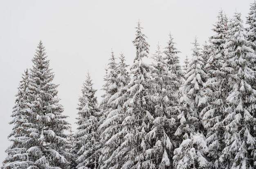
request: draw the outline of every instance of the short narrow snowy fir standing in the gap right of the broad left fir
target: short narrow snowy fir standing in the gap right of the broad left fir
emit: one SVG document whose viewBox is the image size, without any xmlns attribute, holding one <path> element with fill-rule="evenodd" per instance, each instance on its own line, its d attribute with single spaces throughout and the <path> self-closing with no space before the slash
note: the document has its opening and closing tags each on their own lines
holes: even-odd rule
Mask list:
<svg viewBox="0 0 256 169">
<path fill-rule="evenodd" d="M 95 96 L 97 90 L 93 89 L 92 79 L 87 73 L 86 80 L 82 87 L 82 96 L 79 98 L 79 117 L 76 118 L 78 125 L 75 134 L 75 147 L 73 152 L 76 153 L 76 168 L 88 169 L 97 167 L 97 158 L 95 145 L 97 145 L 97 129 L 98 122 L 98 107 L 97 97 Z"/>
</svg>

